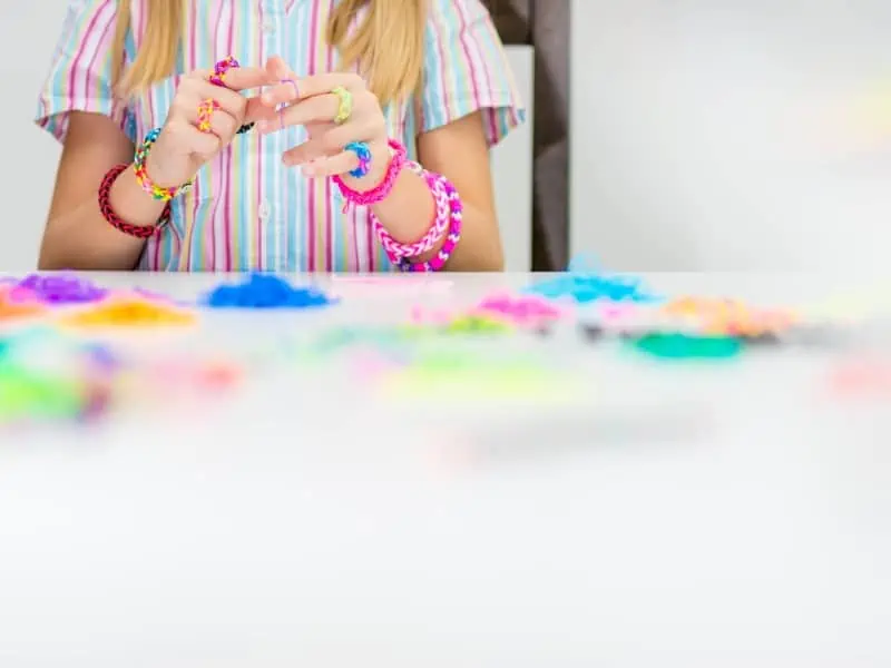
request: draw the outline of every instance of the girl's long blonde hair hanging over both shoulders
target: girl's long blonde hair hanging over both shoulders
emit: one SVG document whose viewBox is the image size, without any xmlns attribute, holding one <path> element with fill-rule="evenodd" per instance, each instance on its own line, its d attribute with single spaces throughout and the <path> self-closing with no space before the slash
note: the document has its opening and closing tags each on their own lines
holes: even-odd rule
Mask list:
<svg viewBox="0 0 891 668">
<path fill-rule="evenodd" d="M 112 47 L 112 78 L 118 90 L 144 89 L 176 70 L 186 1 L 147 2 L 148 20 L 139 51 L 125 69 L 130 0 L 118 0 Z M 366 6 L 368 13 L 353 29 L 356 16 Z M 340 53 L 341 69 L 356 68 L 368 76 L 371 89 L 383 104 L 410 96 L 421 82 L 425 10 L 427 0 L 341 0 L 331 13 L 326 32 L 329 43 Z"/>
</svg>

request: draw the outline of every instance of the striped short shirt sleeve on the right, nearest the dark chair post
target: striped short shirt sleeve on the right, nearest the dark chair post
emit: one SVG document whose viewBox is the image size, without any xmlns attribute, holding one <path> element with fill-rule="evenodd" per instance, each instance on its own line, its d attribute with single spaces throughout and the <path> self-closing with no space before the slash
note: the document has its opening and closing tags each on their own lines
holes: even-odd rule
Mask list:
<svg viewBox="0 0 891 668">
<path fill-rule="evenodd" d="M 480 0 L 431 0 L 420 130 L 482 111 L 489 145 L 525 120 L 507 53 Z"/>
</svg>

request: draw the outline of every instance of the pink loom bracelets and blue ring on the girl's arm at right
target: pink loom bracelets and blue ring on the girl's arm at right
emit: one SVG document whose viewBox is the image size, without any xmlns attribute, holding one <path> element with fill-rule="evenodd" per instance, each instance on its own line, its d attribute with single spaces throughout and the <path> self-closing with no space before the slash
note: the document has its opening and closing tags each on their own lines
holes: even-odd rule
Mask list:
<svg viewBox="0 0 891 668">
<path fill-rule="evenodd" d="M 349 146 L 349 150 L 353 150 L 360 161 L 360 167 L 351 176 L 363 176 L 369 169 L 369 156 L 360 151 L 360 147 Z M 354 206 L 372 206 L 385 199 L 393 189 L 393 186 L 405 167 L 417 171 L 423 176 L 427 181 L 430 193 L 433 195 L 435 204 L 435 214 L 430 229 L 413 244 L 402 244 L 396 242 L 386 228 L 381 224 L 373 212 L 369 212 L 372 228 L 381 242 L 386 256 L 402 272 L 439 272 L 446 266 L 446 263 L 454 252 L 458 242 L 461 239 L 461 220 L 463 217 L 463 206 L 458 191 L 451 183 L 439 174 L 432 174 L 423 169 L 417 163 L 412 163 L 407 158 L 405 147 L 401 144 L 390 140 L 390 149 L 392 158 L 386 174 L 381 183 L 366 191 L 359 191 L 350 188 L 343 179 L 339 176 L 334 177 L 334 183 L 337 184 L 343 197 L 347 204 Z M 362 174 L 360 174 L 360 171 Z M 446 237 L 437 254 L 427 262 L 413 262 L 418 257 L 432 252 Z"/>
</svg>

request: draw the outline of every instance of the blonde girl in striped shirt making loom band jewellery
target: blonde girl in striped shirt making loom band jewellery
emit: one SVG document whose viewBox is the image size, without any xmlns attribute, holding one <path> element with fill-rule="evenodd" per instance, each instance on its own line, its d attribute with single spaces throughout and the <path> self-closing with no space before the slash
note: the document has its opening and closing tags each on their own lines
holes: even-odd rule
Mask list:
<svg viewBox="0 0 891 668">
<path fill-rule="evenodd" d="M 39 264 L 499 271 L 521 119 L 480 0 L 72 0 Z"/>
</svg>

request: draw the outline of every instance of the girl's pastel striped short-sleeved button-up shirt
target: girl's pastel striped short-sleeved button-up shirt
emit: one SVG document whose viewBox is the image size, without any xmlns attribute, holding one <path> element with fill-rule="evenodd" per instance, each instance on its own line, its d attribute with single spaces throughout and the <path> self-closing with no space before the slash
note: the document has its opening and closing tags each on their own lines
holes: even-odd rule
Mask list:
<svg viewBox="0 0 891 668">
<path fill-rule="evenodd" d="M 133 1 L 126 58 L 133 61 L 150 0 Z M 117 0 L 72 0 L 40 95 L 37 122 L 65 140 L 68 112 L 107 115 L 134 144 L 161 126 L 179 76 L 233 55 L 261 65 L 282 56 L 298 76 L 337 68 L 325 29 L 337 0 L 192 0 L 177 73 L 135 99 L 111 92 Z M 384 109 L 390 136 L 412 157 L 417 137 L 474 111 L 490 144 L 522 121 L 503 48 L 480 0 L 431 0 L 424 84 L 415 99 Z M 303 128 L 236 137 L 173 203 L 170 224 L 146 244 L 147 271 L 375 272 L 392 267 L 364 207 L 343 212 L 330 179 L 282 166 Z"/>
</svg>

